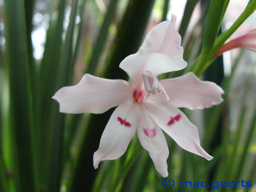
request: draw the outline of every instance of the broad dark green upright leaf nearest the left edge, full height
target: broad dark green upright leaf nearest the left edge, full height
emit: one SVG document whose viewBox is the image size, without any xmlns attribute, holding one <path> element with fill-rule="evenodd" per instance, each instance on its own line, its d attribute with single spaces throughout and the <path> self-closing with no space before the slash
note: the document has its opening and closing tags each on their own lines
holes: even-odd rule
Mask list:
<svg viewBox="0 0 256 192">
<path fill-rule="evenodd" d="M 39 190 L 36 170 L 31 79 L 24 1 L 6 0 L 7 59 L 9 64 L 15 181 L 17 191 Z"/>
</svg>

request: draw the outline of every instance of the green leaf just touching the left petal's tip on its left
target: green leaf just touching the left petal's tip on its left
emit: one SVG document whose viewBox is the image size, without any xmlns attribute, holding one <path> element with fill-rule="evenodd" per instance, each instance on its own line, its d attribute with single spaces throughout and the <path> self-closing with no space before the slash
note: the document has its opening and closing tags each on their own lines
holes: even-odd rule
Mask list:
<svg viewBox="0 0 256 192">
<path fill-rule="evenodd" d="M 52 2 L 51 7 L 54 7 Z M 57 90 L 60 74 L 60 58 L 62 50 L 63 19 L 66 8 L 66 0 L 59 1 L 58 16 L 51 17 L 44 57 L 40 66 L 40 111 L 41 111 L 41 185 L 48 185 L 50 172 L 51 147 L 53 137 L 54 119 L 57 109 L 52 96 Z M 55 11 L 55 10 L 53 10 Z"/>
</svg>

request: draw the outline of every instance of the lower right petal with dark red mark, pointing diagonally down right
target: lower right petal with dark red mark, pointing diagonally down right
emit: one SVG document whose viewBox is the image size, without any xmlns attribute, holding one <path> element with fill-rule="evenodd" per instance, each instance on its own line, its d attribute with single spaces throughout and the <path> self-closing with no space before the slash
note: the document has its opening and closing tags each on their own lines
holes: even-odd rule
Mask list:
<svg viewBox="0 0 256 192">
<path fill-rule="evenodd" d="M 212 159 L 200 146 L 197 127 L 179 109 L 168 102 L 162 101 L 150 102 L 148 100 L 145 104 L 158 126 L 184 150 L 202 156 L 207 160 Z"/>
</svg>

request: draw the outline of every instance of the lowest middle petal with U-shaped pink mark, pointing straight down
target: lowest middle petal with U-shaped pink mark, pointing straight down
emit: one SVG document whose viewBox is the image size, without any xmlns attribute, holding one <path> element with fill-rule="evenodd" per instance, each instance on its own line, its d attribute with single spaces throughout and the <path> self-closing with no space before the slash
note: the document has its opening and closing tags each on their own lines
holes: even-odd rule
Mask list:
<svg viewBox="0 0 256 192">
<path fill-rule="evenodd" d="M 150 154 L 157 171 L 168 176 L 166 160 L 169 155 L 166 139 L 160 127 L 153 121 L 147 110 L 141 107 L 141 117 L 137 129 L 141 145 Z"/>
</svg>

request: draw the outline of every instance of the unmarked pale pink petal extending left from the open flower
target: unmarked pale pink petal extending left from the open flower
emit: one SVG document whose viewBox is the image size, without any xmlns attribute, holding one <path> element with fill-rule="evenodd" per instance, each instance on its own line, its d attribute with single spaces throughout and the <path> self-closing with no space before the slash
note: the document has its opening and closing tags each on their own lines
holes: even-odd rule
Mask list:
<svg viewBox="0 0 256 192">
<path fill-rule="evenodd" d="M 85 74 L 75 86 L 63 87 L 52 97 L 62 113 L 103 113 L 133 97 L 132 86 L 120 79 Z"/>
</svg>

